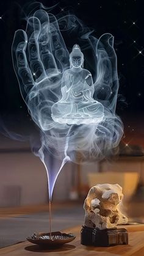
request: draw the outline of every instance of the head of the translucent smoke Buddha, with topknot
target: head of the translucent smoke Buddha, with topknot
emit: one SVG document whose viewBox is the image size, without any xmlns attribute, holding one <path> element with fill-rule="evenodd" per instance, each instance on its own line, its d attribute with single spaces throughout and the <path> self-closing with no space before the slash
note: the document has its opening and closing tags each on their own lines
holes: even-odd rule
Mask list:
<svg viewBox="0 0 144 256">
<path fill-rule="evenodd" d="M 84 67 L 84 54 L 81 52 L 79 45 L 74 45 L 70 53 L 70 67 Z"/>
</svg>

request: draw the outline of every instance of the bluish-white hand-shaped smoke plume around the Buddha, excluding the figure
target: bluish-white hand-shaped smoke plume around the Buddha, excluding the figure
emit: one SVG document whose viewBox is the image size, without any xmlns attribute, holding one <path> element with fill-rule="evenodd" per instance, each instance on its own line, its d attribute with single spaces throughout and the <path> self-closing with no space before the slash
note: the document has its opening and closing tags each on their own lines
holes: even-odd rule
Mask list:
<svg viewBox="0 0 144 256">
<path fill-rule="evenodd" d="M 91 96 L 104 109 L 104 118 L 97 123 L 77 125 L 52 119 L 52 106 L 63 96 L 62 77 L 70 68 L 73 48 L 73 45 L 67 48 L 63 37 L 81 46 L 84 65 L 92 72 Z M 77 153 L 83 163 L 106 158 L 117 148 L 123 135 L 123 123 L 115 114 L 118 75 L 113 36 L 104 34 L 97 39 L 74 15 L 56 18 L 45 10 L 37 10 L 29 15 L 26 31 L 15 32 L 12 58 L 21 95 L 40 129 L 41 147 L 37 155 L 46 167 L 51 200 L 57 176 L 67 161 L 76 163 Z M 65 108 L 71 114 L 68 103 Z M 57 170 L 51 164 L 55 158 L 59 159 Z"/>
</svg>

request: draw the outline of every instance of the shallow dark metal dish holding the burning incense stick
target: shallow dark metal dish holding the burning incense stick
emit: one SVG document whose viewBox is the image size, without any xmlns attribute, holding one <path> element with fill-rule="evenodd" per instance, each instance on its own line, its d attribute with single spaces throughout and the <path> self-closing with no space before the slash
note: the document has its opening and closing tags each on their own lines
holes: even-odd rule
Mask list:
<svg viewBox="0 0 144 256">
<path fill-rule="evenodd" d="M 50 233 L 34 233 L 32 236 L 28 236 L 26 239 L 39 246 L 57 247 L 63 244 L 70 243 L 76 238 L 73 234 L 52 232 Z"/>
</svg>

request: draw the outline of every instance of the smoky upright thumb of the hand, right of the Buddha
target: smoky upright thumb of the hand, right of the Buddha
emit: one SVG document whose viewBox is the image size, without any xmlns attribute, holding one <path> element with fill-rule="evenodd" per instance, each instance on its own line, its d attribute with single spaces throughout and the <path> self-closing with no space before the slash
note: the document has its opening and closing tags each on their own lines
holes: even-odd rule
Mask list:
<svg viewBox="0 0 144 256">
<path fill-rule="evenodd" d="M 118 75 L 117 56 L 113 49 L 113 36 L 111 34 L 107 33 L 99 38 L 95 53 L 98 58 L 95 95 L 110 112 L 115 113 Z"/>
</svg>

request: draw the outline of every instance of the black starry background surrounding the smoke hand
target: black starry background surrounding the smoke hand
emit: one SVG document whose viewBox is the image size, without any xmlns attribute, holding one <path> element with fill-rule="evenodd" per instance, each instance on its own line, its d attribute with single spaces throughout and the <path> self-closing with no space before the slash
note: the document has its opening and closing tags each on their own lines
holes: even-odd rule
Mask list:
<svg viewBox="0 0 144 256">
<path fill-rule="evenodd" d="M 31 117 L 21 98 L 18 81 L 12 66 L 11 46 L 16 29 L 24 29 L 26 21 L 23 6 L 32 1 L 1 1 L 1 115 L 23 115 L 27 123 Z M 120 89 L 117 114 L 124 122 L 125 130 L 135 137 L 143 136 L 144 114 L 144 15 L 143 1 L 139 0 L 65 0 L 41 1 L 45 6 L 59 2 L 54 12 L 70 10 L 85 25 L 95 29 L 98 38 L 105 32 L 115 37 L 114 48 L 118 59 Z M 54 13 L 53 12 L 53 13 Z M 54 13 L 54 14 L 55 14 Z M 141 134 L 141 135 L 140 135 Z"/>
</svg>

